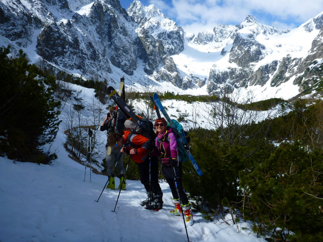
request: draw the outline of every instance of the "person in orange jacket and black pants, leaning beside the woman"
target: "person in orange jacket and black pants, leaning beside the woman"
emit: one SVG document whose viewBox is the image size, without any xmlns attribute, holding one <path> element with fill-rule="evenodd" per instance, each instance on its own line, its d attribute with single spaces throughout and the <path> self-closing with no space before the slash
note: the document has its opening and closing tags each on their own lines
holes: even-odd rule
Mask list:
<svg viewBox="0 0 323 242">
<path fill-rule="evenodd" d="M 109 146 L 123 147 L 121 152 L 131 155 L 138 166 L 140 181 L 146 189 L 148 198 L 140 203 L 145 209 L 156 210 L 163 208 L 163 192 L 158 182 L 158 160 L 152 155 L 154 147 L 150 139 L 128 130 L 124 134 L 110 133 L 108 137 Z M 150 159 L 149 159 L 150 158 Z M 149 169 L 150 166 L 150 169 Z M 150 170 L 150 185 L 149 185 Z"/>
</svg>

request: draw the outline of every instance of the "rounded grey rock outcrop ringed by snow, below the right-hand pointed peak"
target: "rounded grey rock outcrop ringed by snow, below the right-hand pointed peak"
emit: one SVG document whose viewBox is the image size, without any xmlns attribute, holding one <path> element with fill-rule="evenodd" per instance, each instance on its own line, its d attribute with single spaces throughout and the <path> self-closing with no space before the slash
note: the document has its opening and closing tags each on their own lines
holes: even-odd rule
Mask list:
<svg viewBox="0 0 323 242">
<path fill-rule="evenodd" d="M 239 67 L 247 67 L 250 63 L 263 59 L 262 50 L 265 46 L 260 44 L 252 34 L 239 34 L 233 41 L 229 54 L 229 62 Z"/>
</svg>

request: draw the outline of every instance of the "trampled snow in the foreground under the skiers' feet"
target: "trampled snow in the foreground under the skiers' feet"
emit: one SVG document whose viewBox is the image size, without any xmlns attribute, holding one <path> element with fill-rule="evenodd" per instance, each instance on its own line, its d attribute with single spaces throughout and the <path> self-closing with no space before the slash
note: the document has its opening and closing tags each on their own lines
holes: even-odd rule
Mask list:
<svg viewBox="0 0 323 242">
<path fill-rule="evenodd" d="M 182 217 L 169 213 L 173 205 L 167 183 L 160 183 L 164 208 L 155 212 L 139 205 L 146 197 L 140 181 L 127 180 L 114 213 L 118 190 L 105 189 L 96 202 L 107 177 L 92 174 L 90 182 L 87 168 L 84 181 L 85 167 L 67 157 L 61 138 L 55 141 L 59 158 L 51 165 L 0 157 L 1 241 L 186 241 Z M 264 241 L 250 229 L 238 233 L 232 223 L 212 223 L 193 214 L 195 223 L 187 227 L 190 241 Z"/>
</svg>

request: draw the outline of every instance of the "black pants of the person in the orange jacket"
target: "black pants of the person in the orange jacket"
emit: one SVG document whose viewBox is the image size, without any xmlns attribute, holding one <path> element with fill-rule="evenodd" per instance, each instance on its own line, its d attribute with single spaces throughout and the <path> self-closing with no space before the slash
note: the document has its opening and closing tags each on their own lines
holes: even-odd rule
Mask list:
<svg viewBox="0 0 323 242">
<path fill-rule="evenodd" d="M 140 181 L 144 185 L 146 191 L 149 192 L 149 157 L 142 162 L 137 163 L 138 171 L 140 175 Z M 151 157 L 151 165 L 150 165 L 150 184 L 151 184 L 151 191 L 155 195 L 162 195 L 162 188 L 160 188 L 158 182 L 158 161 L 157 157 Z"/>
</svg>

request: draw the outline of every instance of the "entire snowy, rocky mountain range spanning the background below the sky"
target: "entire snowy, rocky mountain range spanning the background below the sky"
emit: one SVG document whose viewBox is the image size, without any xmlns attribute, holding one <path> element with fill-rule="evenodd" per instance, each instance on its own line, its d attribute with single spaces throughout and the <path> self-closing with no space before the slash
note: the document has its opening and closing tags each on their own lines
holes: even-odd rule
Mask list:
<svg viewBox="0 0 323 242">
<path fill-rule="evenodd" d="M 165 90 L 189 94 L 229 83 L 259 99 L 287 99 L 323 74 L 323 12 L 293 30 L 247 16 L 196 36 L 139 1 L 126 11 L 118 0 L 0 0 L 0 16 L 2 45 L 88 78 L 126 74 L 127 84 L 149 75 Z"/>
</svg>

